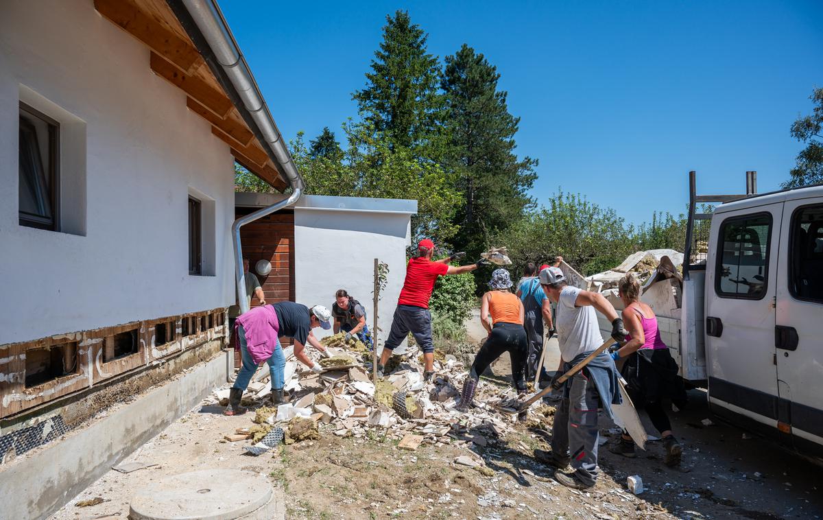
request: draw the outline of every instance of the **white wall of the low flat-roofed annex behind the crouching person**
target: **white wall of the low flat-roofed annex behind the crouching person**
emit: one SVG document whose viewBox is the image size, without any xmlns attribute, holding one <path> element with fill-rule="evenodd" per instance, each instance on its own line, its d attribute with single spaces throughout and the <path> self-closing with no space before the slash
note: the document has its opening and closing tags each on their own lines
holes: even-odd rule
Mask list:
<svg viewBox="0 0 823 520">
<path fill-rule="evenodd" d="M 337 289 L 345 289 L 374 323 L 374 258 L 388 263 L 388 285 L 379 302 L 381 345 L 388 337 L 406 277 L 411 215 L 361 211 L 295 209 L 295 299 L 329 309 Z M 314 329 L 315 335 L 331 333 Z"/>
</svg>

